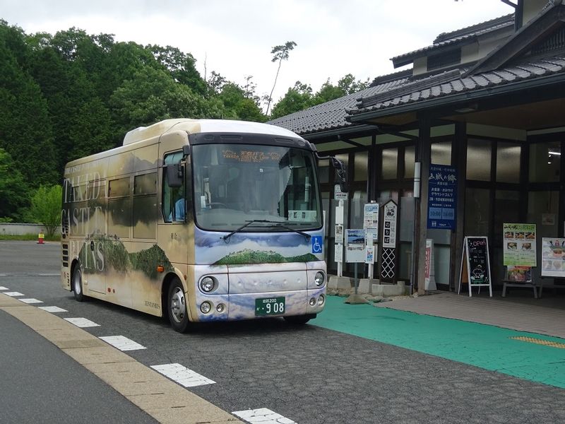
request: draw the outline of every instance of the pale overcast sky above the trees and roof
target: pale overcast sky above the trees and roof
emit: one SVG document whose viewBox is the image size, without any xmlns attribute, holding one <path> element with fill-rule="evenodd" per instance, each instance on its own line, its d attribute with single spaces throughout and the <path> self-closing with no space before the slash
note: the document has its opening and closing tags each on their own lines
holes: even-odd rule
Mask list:
<svg viewBox="0 0 565 424">
<path fill-rule="evenodd" d="M 347 73 L 362 81 L 398 71 L 391 57 L 439 35 L 513 13 L 500 0 L 0 0 L 0 18 L 25 33 L 71 27 L 117 41 L 171 45 L 191 53 L 204 76 L 216 71 L 258 95 L 277 71 L 270 50 L 294 41 L 273 99 L 295 81 L 314 89 Z"/>
</svg>

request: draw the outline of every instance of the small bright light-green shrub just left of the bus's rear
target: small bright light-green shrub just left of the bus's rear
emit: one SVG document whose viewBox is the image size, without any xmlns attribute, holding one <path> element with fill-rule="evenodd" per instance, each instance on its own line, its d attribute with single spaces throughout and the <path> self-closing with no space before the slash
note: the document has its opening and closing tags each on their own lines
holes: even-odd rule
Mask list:
<svg viewBox="0 0 565 424">
<path fill-rule="evenodd" d="M 61 222 L 62 192 L 60 185 L 40 186 L 31 197 L 30 218 L 44 225 L 48 237 L 54 235 Z"/>
</svg>

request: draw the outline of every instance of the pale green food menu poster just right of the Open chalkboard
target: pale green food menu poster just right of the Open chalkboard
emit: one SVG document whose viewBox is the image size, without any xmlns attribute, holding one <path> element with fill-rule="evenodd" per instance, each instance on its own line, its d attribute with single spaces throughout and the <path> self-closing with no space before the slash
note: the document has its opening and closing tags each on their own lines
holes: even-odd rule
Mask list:
<svg viewBox="0 0 565 424">
<path fill-rule="evenodd" d="M 503 263 L 506 266 L 537 266 L 535 224 L 502 224 Z"/>
</svg>

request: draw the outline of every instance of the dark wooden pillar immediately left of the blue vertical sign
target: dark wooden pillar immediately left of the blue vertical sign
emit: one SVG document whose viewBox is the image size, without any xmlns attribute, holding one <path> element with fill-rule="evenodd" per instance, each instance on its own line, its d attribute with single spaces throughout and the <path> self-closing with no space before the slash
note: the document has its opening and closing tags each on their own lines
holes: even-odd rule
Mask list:
<svg viewBox="0 0 565 424">
<path fill-rule="evenodd" d="M 416 201 L 416 219 L 414 225 L 414 260 L 415 276 L 414 281 L 418 288 L 418 294 L 423 295 L 425 290 L 425 257 L 426 257 L 426 237 L 427 237 L 427 210 L 428 210 L 428 185 L 429 185 L 429 163 L 432 158 L 432 143 L 430 141 L 431 124 L 427 117 L 419 119 L 419 139 L 416 149 L 416 160 L 420 162 L 420 201 Z"/>
</svg>

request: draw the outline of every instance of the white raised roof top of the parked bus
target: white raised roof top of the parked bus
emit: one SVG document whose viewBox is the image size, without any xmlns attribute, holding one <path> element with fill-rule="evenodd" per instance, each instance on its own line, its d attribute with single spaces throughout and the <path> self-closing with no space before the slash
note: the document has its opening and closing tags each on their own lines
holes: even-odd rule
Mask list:
<svg viewBox="0 0 565 424">
<path fill-rule="evenodd" d="M 170 129 L 184 130 L 189 134 L 198 133 L 250 133 L 250 134 L 270 134 L 273 136 L 292 137 L 302 139 L 301 136 L 270 124 L 260 124 L 258 122 L 232 121 L 228 119 L 165 119 L 150 126 L 140 126 L 132 129 L 124 137 L 124 146 L 157 137 L 165 134 Z"/>
</svg>

